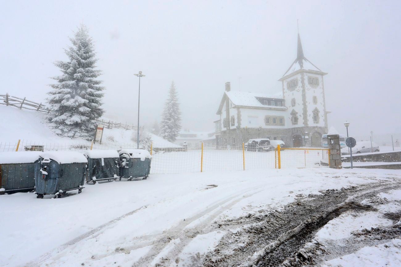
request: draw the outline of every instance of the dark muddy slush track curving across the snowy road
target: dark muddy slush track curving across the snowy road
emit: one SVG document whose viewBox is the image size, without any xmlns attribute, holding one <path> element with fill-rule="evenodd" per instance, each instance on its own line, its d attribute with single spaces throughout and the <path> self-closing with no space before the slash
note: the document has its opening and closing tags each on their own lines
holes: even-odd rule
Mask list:
<svg viewBox="0 0 401 267">
<path fill-rule="evenodd" d="M 322 220 L 330 217 L 331 213 L 349 205 L 352 199 L 400 186 L 401 183 L 395 181 L 326 190 L 321 195 L 299 196 L 299 199 L 281 211 L 261 210 L 254 215 L 222 222 L 219 225 L 222 229 L 232 229 L 238 225 L 245 227 L 236 232 L 228 232 L 199 266 L 279 265 L 298 251 L 310 239 L 311 233 L 324 225 L 319 226 L 319 222 L 324 222 Z M 292 243 L 288 242 L 299 233 L 302 233 L 299 236 L 303 238 L 294 238 Z"/>
</svg>

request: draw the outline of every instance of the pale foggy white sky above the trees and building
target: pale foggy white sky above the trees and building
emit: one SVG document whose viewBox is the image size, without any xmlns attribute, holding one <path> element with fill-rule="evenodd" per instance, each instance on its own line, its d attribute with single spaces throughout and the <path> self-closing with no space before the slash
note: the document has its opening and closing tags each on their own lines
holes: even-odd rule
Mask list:
<svg viewBox="0 0 401 267">
<path fill-rule="evenodd" d="M 103 70 L 105 117 L 160 121 L 176 84 L 182 126 L 213 131 L 224 92 L 282 90 L 296 58 L 297 19 L 304 54 L 324 76 L 328 124 L 340 133 L 401 132 L 400 1 L 2 1 L 0 93 L 41 102 L 59 75 L 55 60 L 81 22 Z M 241 88 L 239 88 L 241 78 Z M 4 115 L 4 114 L 0 114 Z"/>
</svg>

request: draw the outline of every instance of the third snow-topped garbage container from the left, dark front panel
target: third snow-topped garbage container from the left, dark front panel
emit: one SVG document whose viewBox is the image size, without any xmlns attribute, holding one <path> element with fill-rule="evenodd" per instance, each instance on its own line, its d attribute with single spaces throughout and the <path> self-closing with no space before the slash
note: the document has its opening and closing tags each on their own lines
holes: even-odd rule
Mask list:
<svg viewBox="0 0 401 267">
<path fill-rule="evenodd" d="M 86 183 L 119 178 L 120 158 L 116 150 L 88 150 L 83 155 L 88 160 Z"/>
</svg>

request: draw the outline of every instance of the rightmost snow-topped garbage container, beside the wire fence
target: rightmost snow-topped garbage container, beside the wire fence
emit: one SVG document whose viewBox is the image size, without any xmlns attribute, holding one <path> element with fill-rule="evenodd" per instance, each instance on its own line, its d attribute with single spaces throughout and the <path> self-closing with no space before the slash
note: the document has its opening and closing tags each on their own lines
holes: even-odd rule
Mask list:
<svg viewBox="0 0 401 267">
<path fill-rule="evenodd" d="M 126 178 L 131 181 L 136 177 L 147 179 L 150 173 L 152 156 L 145 149 L 123 149 L 120 155 L 120 181 Z"/>
</svg>

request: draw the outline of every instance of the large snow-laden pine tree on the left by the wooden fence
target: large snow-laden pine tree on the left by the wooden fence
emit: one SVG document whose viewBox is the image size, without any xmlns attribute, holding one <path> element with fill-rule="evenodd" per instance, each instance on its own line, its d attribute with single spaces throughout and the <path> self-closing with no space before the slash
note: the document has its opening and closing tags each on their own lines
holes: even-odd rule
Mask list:
<svg viewBox="0 0 401 267">
<path fill-rule="evenodd" d="M 56 84 L 47 98 L 51 112 L 47 119 L 57 135 L 80 137 L 91 140 L 95 134 L 95 120 L 103 114 L 101 108 L 101 92 L 105 88 L 99 86 L 96 78 L 101 70 L 96 70 L 95 48 L 88 29 L 81 24 L 73 38 L 69 38 L 72 46 L 65 50 L 68 61 L 55 61 L 61 69 L 60 76 L 55 76 Z"/>
</svg>

